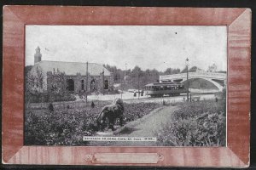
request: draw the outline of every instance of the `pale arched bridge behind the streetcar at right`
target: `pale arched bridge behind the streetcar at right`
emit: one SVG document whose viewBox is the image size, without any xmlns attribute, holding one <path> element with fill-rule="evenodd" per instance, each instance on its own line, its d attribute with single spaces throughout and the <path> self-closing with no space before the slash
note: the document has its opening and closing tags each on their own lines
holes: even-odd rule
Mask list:
<svg viewBox="0 0 256 170">
<path fill-rule="evenodd" d="M 207 80 L 208 82 L 212 82 L 218 90 L 222 90 L 226 85 L 226 73 L 219 72 L 206 72 L 206 71 L 195 71 L 189 72 L 189 79 L 201 78 Z M 184 82 L 187 80 L 187 73 L 179 73 L 173 75 L 164 75 L 160 76 L 160 82 Z"/>
</svg>

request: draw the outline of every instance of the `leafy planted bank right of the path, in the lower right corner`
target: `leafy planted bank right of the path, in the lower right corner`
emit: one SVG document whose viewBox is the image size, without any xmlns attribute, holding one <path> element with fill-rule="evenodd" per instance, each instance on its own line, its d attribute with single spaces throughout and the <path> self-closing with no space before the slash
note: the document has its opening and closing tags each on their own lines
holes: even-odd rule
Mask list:
<svg viewBox="0 0 256 170">
<path fill-rule="evenodd" d="M 155 133 L 158 145 L 225 146 L 225 99 L 183 103 Z"/>
</svg>

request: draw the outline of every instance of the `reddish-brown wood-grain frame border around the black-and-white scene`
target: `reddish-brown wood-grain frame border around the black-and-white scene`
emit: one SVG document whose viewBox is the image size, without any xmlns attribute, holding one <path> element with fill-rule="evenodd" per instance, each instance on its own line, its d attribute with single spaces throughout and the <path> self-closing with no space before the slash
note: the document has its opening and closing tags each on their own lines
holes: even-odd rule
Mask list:
<svg viewBox="0 0 256 170">
<path fill-rule="evenodd" d="M 227 147 L 25 146 L 23 101 L 26 25 L 227 26 Z M 5 6 L 3 8 L 2 162 L 51 165 L 247 167 L 250 140 L 250 80 L 251 10 L 248 8 Z M 108 156 L 108 161 L 104 156 Z M 125 156 L 131 158 L 131 161 L 127 161 Z M 113 161 L 117 157 L 122 159 Z M 134 161 L 138 160 L 138 157 L 142 159 L 145 157 L 147 160 Z"/>
</svg>

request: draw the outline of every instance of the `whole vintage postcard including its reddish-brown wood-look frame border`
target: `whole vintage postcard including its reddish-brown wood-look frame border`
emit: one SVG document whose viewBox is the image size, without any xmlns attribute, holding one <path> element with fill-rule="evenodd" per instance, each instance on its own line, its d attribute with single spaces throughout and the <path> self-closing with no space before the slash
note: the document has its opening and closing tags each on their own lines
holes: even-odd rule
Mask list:
<svg viewBox="0 0 256 170">
<path fill-rule="evenodd" d="M 250 17 L 4 7 L 3 163 L 247 167 Z"/>
</svg>

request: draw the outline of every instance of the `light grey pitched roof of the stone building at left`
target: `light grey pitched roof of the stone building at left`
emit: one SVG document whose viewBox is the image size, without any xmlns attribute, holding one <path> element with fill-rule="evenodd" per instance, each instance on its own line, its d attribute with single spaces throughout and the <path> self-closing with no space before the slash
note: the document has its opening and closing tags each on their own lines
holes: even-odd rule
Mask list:
<svg viewBox="0 0 256 170">
<path fill-rule="evenodd" d="M 40 66 L 44 71 L 57 71 L 65 72 L 68 76 L 76 76 L 80 73 L 86 76 L 86 63 L 79 62 L 63 62 L 63 61 L 40 61 L 35 66 Z M 100 76 L 104 71 L 104 76 L 110 76 L 110 72 L 103 66 L 96 63 L 88 63 L 88 73 L 91 76 Z"/>
</svg>

